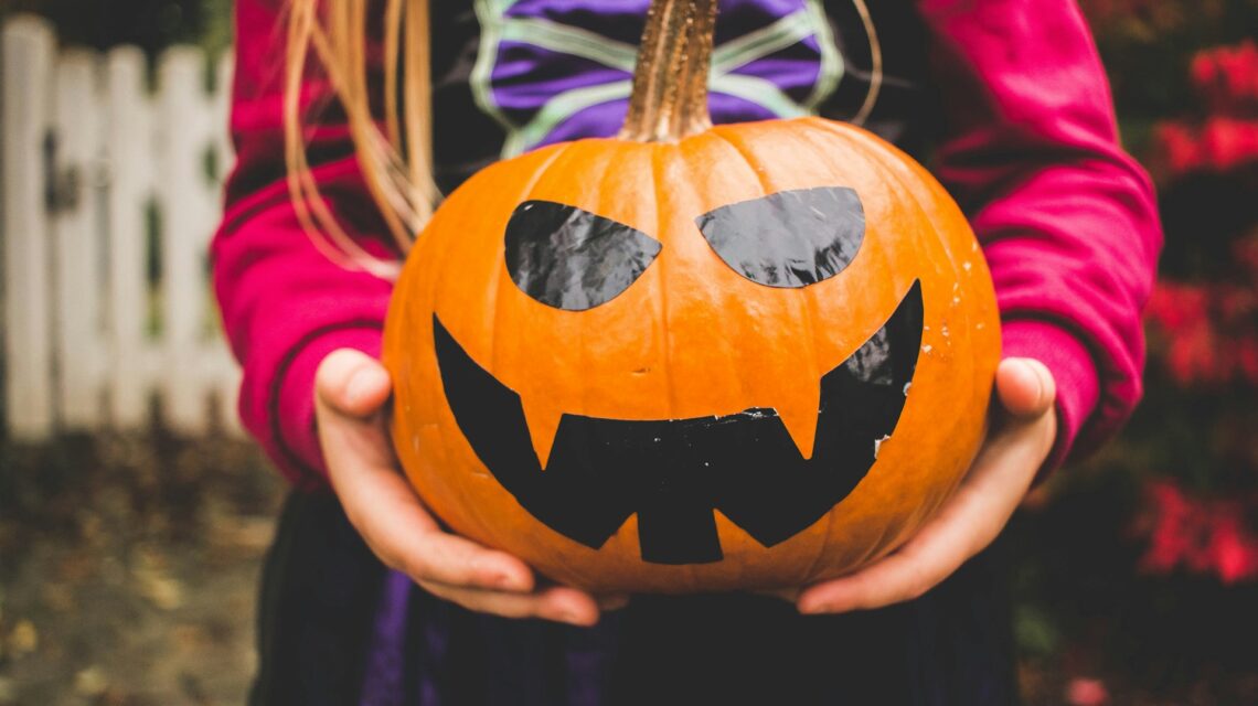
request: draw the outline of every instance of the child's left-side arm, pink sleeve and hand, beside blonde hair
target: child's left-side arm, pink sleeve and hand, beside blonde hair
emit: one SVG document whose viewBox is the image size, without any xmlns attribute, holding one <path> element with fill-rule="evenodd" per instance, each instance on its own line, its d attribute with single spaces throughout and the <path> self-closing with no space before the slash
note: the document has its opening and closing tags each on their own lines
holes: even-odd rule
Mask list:
<svg viewBox="0 0 1258 706">
<path fill-rule="evenodd" d="M 535 589 L 520 559 L 447 534 L 398 472 L 384 422 L 389 374 L 375 360 L 392 286 L 327 259 L 289 201 L 279 11 L 288 1 L 238 0 L 235 6 L 238 162 L 214 238 L 213 269 L 223 322 L 244 366 L 240 417 L 293 483 L 318 488 L 331 479 L 347 517 L 381 561 L 431 593 L 472 610 L 593 623 L 599 607 L 591 597 L 564 586 Z M 303 84 L 303 103 L 330 99 L 327 83 Z M 386 255 L 385 227 L 335 104 L 318 118 L 309 157 L 340 223 L 365 248 Z"/>
</svg>

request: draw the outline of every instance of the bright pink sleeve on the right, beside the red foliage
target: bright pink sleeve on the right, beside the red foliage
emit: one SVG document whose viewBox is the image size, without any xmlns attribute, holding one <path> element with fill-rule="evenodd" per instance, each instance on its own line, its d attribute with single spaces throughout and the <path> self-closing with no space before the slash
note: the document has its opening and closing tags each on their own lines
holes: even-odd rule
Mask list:
<svg viewBox="0 0 1258 706">
<path fill-rule="evenodd" d="M 1141 395 L 1161 247 L 1147 175 L 1122 151 L 1105 69 L 1069 0 L 921 0 L 946 136 L 935 171 L 991 264 L 1006 356 L 1058 386 L 1045 469 L 1115 433 Z"/>
</svg>

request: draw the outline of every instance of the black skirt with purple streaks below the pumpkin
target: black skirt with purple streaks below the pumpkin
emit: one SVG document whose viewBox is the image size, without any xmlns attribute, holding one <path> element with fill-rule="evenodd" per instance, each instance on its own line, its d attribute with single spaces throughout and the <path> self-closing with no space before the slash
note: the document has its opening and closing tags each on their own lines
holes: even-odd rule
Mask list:
<svg viewBox="0 0 1258 706">
<path fill-rule="evenodd" d="M 335 497 L 293 493 L 264 570 L 250 705 L 1006 706 L 1018 701 L 1006 574 L 998 542 L 881 610 L 804 617 L 759 595 L 642 595 L 594 628 L 482 615 L 404 584 L 400 644 L 381 654 L 389 571 Z"/>
</svg>

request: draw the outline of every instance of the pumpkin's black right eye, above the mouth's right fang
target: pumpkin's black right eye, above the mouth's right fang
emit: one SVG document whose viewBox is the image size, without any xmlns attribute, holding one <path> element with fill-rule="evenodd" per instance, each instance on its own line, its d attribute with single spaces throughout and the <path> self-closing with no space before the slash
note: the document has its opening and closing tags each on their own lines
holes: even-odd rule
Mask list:
<svg viewBox="0 0 1258 706">
<path fill-rule="evenodd" d="M 864 242 L 864 206 L 847 186 L 779 191 L 694 223 L 735 272 L 769 287 L 806 287 L 843 272 Z"/>
</svg>

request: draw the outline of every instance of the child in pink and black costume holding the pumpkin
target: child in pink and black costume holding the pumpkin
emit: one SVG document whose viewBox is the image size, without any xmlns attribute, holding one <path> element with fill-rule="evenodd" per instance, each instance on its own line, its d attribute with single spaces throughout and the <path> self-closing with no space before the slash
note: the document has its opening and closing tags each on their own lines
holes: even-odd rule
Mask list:
<svg viewBox="0 0 1258 706">
<path fill-rule="evenodd" d="M 313 44 L 333 45 L 336 84 L 307 77 L 288 92 L 289 108 L 327 106 L 306 131 L 298 188 L 316 186 L 327 211 L 307 214 L 286 179 L 304 157 L 283 148 L 281 59 L 302 55 L 311 1 L 237 3 L 239 161 L 214 243 L 240 413 L 294 485 L 263 580 L 254 703 L 1016 701 L 1000 547 L 981 550 L 1037 473 L 1094 448 L 1140 396 L 1138 312 L 1160 244 L 1073 3 L 722 0 L 717 122 L 862 122 L 966 209 L 1003 312 L 1003 409 L 956 498 L 873 566 L 785 597 L 630 599 L 545 585 L 440 530 L 384 429 L 390 385 L 374 359 L 390 283 L 330 259 L 303 219 L 343 237 L 342 250 L 389 258 L 390 232 L 423 218 L 414 193 L 372 198 L 390 189 L 364 137 L 372 115 L 411 165 L 428 160 L 401 136 L 426 113 L 385 115 L 421 104 L 381 78 L 399 57 L 406 86 L 429 69 L 442 190 L 502 155 L 614 133 L 647 0 L 431 0 L 405 50 L 387 40 L 418 16 L 401 4 L 328 4 L 338 31 Z M 419 35 L 430 67 L 415 60 Z"/>
</svg>

